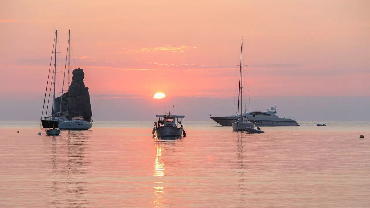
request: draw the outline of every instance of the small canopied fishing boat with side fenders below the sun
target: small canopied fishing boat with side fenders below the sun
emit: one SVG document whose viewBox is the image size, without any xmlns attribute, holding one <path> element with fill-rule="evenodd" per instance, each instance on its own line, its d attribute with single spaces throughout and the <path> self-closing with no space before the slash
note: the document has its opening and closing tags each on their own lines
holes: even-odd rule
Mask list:
<svg viewBox="0 0 370 208">
<path fill-rule="evenodd" d="M 158 137 L 181 137 L 186 135 L 184 131 L 184 115 L 156 115 L 152 134 L 157 133 Z M 180 127 L 178 127 L 180 124 Z"/>
</svg>

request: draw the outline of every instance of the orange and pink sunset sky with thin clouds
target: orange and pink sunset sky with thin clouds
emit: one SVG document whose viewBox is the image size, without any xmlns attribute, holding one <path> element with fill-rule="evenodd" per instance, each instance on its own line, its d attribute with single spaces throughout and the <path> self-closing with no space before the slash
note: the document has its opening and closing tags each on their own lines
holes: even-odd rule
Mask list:
<svg viewBox="0 0 370 208">
<path fill-rule="evenodd" d="M 367 0 L 1 1 L 0 120 L 40 117 L 55 29 L 59 71 L 71 30 L 94 120 L 154 120 L 172 105 L 188 120 L 234 114 L 242 37 L 248 110 L 369 120 L 369 10 Z"/>
</svg>

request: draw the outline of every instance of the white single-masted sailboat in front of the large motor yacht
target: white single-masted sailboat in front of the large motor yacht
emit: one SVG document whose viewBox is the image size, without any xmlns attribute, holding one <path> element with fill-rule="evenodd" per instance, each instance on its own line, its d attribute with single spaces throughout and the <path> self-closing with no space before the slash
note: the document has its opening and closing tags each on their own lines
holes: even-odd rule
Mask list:
<svg viewBox="0 0 370 208">
<path fill-rule="evenodd" d="M 240 114 L 239 114 L 239 103 L 240 103 Z M 244 131 L 245 128 L 255 128 L 255 124 L 249 121 L 248 117 L 243 116 L 243 38 L 242 47 L 240 52 L 240 70 L 239 70 L 239 88 L 238 88 L 238 110 L 236 113 L 236 119 L 231 123 L 233 131 Z"/>
</svg>

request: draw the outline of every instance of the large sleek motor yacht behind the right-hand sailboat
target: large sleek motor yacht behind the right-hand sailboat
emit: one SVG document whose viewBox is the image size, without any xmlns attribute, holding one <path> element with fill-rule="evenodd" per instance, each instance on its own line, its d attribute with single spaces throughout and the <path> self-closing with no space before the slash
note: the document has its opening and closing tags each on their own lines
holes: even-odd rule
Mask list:
<svg viewBox="0 0 370 208">
<path fill-rule="evenodd" d="M 275 108 L 271 107 L 271 110 L 267 111 L 251 111 L 246 112 L 243 114 L 243 117 L 247 117 L 249 120 L 254 121 L 256 126 L 299 126 L 297 121 L 294 118 L 280 118 L 279 116 L 275 115 L 276 112 L 276 105 Z M 236 115 L 229 115 L 224 117 L 212 117 L 213 121 L 216 121 L 218 124 L 222 126 L 231 126 L 232 121 L 237 118 Z"/>
</svg>

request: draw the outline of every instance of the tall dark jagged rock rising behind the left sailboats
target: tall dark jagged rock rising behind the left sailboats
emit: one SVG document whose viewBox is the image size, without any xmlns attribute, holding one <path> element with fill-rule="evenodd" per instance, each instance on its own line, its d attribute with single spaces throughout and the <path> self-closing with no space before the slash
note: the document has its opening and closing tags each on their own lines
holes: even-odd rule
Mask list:
<svg viewBox="0 0 370 208">
<path fill-rule="evenodd" d="M 82 68 L 75 68 L 72 72 L 72 82 L 68 92 L 63 94 L 62 112 L 68 112 L 72 118 L 75 115 L 82 115 L 85 121 L 91 121 L 91 104 L 89 88 L 85 87 L 85 74 Z M 70 95 L 68 98 L 68 94 Z M 55 98 L 55 106 L 60 106 L 60 97 Z M 59 111 L 57 108 L 56 111 Z"/>
</svg>

